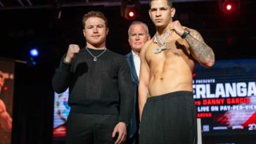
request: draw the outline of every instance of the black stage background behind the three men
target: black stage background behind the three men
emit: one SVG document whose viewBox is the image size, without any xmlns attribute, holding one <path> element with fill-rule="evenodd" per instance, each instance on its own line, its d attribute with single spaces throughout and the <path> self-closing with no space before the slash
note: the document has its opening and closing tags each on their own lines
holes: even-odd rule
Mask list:
<svg viewBox="0 0 256 144">
<path fill-rule="evenodd" d="M 40 53 L 39 58 L 34 59 L 37 65 L 15 65 L 13 144 L 52 143 L 51 78 L 69 44 L 84 46 L 81 22 L 84 13 L 92 10 L 105 13 L 110 27 L 107 48 L 121 54 L 130 51 L 127 29 L 132 20 L 122 18 L 120 5 L 62 7 L 58 4 L 55 1 L 32 8 L 11 5 L 0 8 L 0 57 L 27 61 L 33 47 Z M 177 8 L 175 19 L 198 30 L 215 51 L 216 60 L 255 58 L 256 1 L 241 0 L 241 8 L 231 15 L 223 13 L 218 1 L 175 2 L 174 7 Z M 61 11 L 60 18 L 58 11 Z M 136 20 L 146 22 L 153 37 L 155 27 L 148 16 L 148 4 L 141 4 L 140 17 Z M 254 137 L 207 136 L 203 140 L 205 143 L 217 143 L 217 140 L 228 143 L 230 139 L 243 138 L 246 142 Z M 248 140 L 248 143 L 254 142 Z"/>
</svg>

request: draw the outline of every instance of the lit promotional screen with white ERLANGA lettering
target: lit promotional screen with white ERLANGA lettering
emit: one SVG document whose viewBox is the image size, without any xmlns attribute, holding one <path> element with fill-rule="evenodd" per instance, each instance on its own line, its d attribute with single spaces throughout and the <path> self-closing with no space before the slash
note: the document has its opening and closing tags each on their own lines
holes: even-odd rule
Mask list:
<svg viewBox="0 0 256 144">
<path fill-rule="evenodd" d="M 256 59 L 196 67 L 193 93 L 203 135 L 256 134 Z"/>
</svg>

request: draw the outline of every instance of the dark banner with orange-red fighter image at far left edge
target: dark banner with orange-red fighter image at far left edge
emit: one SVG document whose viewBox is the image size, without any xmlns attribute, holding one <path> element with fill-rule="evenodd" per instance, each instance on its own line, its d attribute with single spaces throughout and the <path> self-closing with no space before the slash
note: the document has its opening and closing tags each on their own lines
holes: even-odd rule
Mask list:
<svg viewBox="0 0 256 144">
<path fill-rule="evenodd" d="M 0 144 L 11 144 L 14 60 L 0 58 Z"/>
</svg>

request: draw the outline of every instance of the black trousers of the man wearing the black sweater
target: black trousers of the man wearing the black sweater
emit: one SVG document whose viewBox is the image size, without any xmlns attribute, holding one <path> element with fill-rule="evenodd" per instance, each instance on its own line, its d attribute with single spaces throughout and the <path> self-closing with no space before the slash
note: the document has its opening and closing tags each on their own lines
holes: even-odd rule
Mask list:
<svg viewBox="0 0 256 144">
<path fill-rule="evenodd" d="M 118 115 L 70 113 L 67 121 L 67 144 L 113 144 L 113 130 Z"/>
</svg>

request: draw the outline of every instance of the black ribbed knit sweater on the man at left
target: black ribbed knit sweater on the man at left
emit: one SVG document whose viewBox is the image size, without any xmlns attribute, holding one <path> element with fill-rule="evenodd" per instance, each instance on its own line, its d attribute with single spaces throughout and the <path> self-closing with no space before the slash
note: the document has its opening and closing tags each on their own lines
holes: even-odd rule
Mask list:
<svg viewBox="0 0 256 144">
<path fill-rule="evenodd" d="M 104 50 L 89 51 L 97 56 Z M 86 48 L 80 49 L 68 65 L 60 61 L 53 77 L 53 90 L 62 93 L 70 88 L 70 112 L 118 114 L 119 122 L 129 124 L 133 96 L 129 65 L 123 55 L 106 50 L 96 61 Z"/>
</svg>

